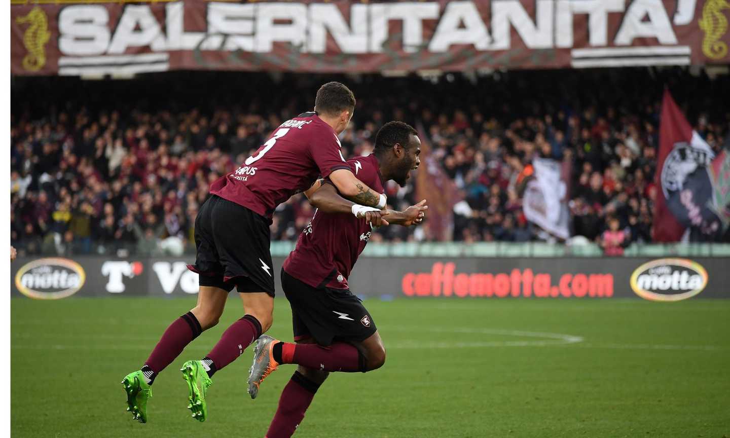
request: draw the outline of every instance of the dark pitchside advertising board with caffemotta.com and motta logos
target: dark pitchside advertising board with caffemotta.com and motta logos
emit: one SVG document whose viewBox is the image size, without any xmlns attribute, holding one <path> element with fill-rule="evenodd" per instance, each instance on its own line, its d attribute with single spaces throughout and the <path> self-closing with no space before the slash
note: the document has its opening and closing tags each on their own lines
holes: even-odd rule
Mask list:
<svg viewBox="0 0 730 438">
<path fill-rule="evenodd" d="M 18 258 L 12 296 L 191 296 L 191 259 L 97 256 Z M 283 296 L 274 258 L 277 295 Z M 730 258 L 377 258 L 348 283 L 362 297 L 392 299 L 730 299 Z"/>
</svg>

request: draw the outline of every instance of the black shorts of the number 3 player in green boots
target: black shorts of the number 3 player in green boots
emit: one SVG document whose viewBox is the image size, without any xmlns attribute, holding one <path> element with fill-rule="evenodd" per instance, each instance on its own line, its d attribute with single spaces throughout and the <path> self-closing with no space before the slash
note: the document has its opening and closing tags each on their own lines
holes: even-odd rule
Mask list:
<svg viewBox="0 0 730 438">
<path fill-rule="evenodd" d="M 195 264 L 201 286 L 274 296 L 269 221 L 242 205 L 211 195 L 195 219 Z"/>
</svg>

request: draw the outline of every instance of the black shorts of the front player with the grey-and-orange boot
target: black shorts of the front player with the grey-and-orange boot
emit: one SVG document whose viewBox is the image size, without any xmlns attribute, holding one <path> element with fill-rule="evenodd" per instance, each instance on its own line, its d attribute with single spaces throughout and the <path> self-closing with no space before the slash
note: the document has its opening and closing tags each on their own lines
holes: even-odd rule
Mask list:
<svg viewBox="0 0 730 438">
<path fill-rule="evenodd" d="M 361 299 L 347 289 L 313 288 L 284 269 L 281 286 L 291 305 L 294 340 L 312 337 L 319 345 L 361 342 L 377 331 Z"/>
</svg>

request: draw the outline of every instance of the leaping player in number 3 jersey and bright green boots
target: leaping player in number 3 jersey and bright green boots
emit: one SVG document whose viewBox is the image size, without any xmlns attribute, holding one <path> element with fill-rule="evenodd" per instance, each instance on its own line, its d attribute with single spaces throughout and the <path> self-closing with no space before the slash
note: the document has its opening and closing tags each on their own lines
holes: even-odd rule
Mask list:
<svg viewBox="0 0 730 438">
<path fill-rule="evenodd" d="M 377 193 L 362 183 L 342 158 L 337 136 L 347 128 L 354 110 L 355 96 L 349 88 L 339 82 L 322 85 L 314 112 L 282 123 L 255 155 L 210 186 L 210 196 L 195 220 L 196 261 L 188 266 L 200 277 L 198 304 L 166 329 L 141 369 L 124 377 L 127 410 L 134 419 L 147 422 L 147 399 L 155 377 L 185 345 L 218 323 L 233 288 L 238 289 L 245 315 L 226 329 L 210 353 L 185 362 L 181 370 L 188 383 L 188 409 L 193 418 L 207 418 L 205 396 L 210 377 L 272 325 L 274 272 L 269 225 L 279 204 L 312 187 L 321 175 L 354 201 L 339 199 L 340 204 L 328 204 L 339 208 L 335 211 L 342 211 L 345 205 L 358 218 L 387 224 L 381 218 L 387 214 L 382 211 L 386 203 L 382 190 Z"/>
</svg>

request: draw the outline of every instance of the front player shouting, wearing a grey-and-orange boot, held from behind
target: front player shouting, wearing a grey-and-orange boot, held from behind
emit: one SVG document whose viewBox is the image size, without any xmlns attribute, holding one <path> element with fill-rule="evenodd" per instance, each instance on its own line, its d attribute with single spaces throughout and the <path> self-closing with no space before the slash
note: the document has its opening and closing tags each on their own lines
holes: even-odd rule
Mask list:
<svg viewBox="0 0 730 438">
<path fill-rule="evenodd" d="M 389 122 L 377 133 L 374 153 L 347 164 L 361 181 L 382 193 L 386 180 L 395 180 L 401 187 L 406 184 L 410 171 L 420 164 L 419 153 L 415 129 Z M 339 199 L 326 181 L 307 192 L 319 209 L 334 210 L 332 204 Z M 404 212 L 389 212 L 388 222 L 420 223 L 427 208 L 423 200 Z M 248 379 L 251 398 L 255 399 L 261 382 L 280 364 L 299 367 L 281 394 L 266 438 L 291 437 L 329 372 L 367 372 L 385 363 L 385 347 L 375 321 L 347 286 L 372 227 L 348 213 L 347 207 L 339 207 L 336 213 L 316 211 L 284 262 L 281 283 L 291 305 L 296 344 L 268 335 L 258 338 Z"/>
</svg>

